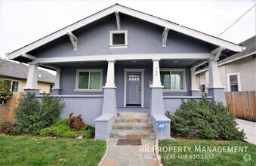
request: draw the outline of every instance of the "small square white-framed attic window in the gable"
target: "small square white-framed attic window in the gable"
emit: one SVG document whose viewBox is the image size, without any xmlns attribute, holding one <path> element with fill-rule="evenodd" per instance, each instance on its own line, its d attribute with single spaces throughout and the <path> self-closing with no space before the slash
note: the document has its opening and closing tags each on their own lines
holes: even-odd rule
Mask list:
<svg viewBox="0 0 256 166">
<path fill-rule="evenodd" d="M 127 48 L 127 30 L 110 31 L 109 48 Z"/>
</svg>

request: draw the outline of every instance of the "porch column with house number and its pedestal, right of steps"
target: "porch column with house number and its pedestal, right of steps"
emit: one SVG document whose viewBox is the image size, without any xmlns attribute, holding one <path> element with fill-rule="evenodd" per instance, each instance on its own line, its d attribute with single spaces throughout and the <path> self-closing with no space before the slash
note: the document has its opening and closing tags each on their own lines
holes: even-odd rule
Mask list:
<svg viewBox="0 0 256 166">
<path fill-rule="evenodd" d="M 156 139 L 164 140 L 171 137 L 171 120 L 165 116 L 164 98 L 162 94 L 162 84 L 160 79 L 159 59 L 153 60 L 153 84 L 151 88 L 151 117 L 153 128 L 156 133 Z M 159 131 L 158 124 L 164 121 L 166 124 L 165 131 Z"/>
</svg>

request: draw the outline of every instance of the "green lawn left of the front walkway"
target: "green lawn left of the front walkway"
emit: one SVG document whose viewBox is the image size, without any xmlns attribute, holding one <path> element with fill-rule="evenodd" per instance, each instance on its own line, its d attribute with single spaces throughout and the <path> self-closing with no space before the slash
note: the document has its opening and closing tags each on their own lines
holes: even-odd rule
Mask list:
<svg viewBox="0 0 256 166">
<path fill-rule="evenodd" d="M 0 149 L 0 165 L 97 165 L 106 152 L 106 142 L 0 134 Z"/>
</svg>

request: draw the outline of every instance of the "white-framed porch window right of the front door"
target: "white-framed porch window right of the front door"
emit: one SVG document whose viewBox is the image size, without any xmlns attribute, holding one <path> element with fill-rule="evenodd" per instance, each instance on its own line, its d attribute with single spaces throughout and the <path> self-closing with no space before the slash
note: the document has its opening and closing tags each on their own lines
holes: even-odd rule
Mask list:
<svg viewBox="0 0 256 166">
<path fill-rule="evenodd" d="M 185 90 L 184 69 L 161 69 L 160 78 L 166 90 Z"/>
</svg>

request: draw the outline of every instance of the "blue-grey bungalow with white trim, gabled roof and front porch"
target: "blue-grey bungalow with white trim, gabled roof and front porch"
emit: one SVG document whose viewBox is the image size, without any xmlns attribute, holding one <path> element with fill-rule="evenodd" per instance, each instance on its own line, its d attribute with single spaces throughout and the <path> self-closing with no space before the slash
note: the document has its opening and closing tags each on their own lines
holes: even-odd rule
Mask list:
<svg viewBox="0 0 256 166">
<path fill-rule="evenodd" d="M 66 103 L 61 117 L 82 114 L 108 139 L 117 112 L 148 112 L 157 139 L 170 137 L 170 119 L 181 100 L 200 99 L 196 69 L 209 66 L 209 98 L 225 103 L 217 60 L 240 45 L 113 5 L 8 54 L 29 63 L 26 89 L 38 91 L 38 66 L 57 71 L 53 94 Z M 40 97 L 40 96 L 39 96 Z M 165 131 L 157 124 L 163 121 Z"/>
</svg>

